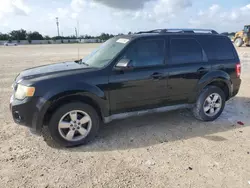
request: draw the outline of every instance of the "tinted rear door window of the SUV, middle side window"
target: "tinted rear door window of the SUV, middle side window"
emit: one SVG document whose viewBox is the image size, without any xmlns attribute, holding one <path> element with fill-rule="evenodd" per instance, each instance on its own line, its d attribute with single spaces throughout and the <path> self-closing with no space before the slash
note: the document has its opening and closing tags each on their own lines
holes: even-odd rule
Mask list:
<svg viewBox="0 0 250 188">
<path fill-rule="evenodd" d="M 172 63 L 202 62 L 202 48 L 195 39 L 171 40 Z"/>
</svg>

